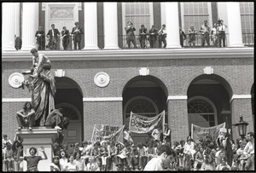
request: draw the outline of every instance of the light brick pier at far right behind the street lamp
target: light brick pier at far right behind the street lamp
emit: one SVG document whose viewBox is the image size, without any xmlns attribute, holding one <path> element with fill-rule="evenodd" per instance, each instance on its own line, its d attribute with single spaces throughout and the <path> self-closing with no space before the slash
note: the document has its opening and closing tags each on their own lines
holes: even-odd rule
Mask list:
<svg viewBox="0 0 256 173">
<path fill-rule="evenodd" d="M 240 116 L 242 115 L 243 120 L 248 123 L 247 133 L 250 131 L 254 132 L 253 127 L 253 113 L 252 113 L 252 102 L 251 98 L 234 98 L 231 102 L 231 119 L 232 124 L 239 123 Z M 232 135 L 233 139 L 237 139 L 239 137 L 238 127 L 232 126 Z"/>
</svg>

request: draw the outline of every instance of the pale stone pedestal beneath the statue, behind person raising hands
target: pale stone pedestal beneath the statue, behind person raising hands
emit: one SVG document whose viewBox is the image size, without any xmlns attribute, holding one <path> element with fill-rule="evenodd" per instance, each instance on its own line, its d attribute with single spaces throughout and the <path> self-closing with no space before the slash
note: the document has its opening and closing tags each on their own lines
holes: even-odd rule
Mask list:
<svg viewBox="0 0 256 173">
<path fill-rule="evenodd" d="M 55 129 L 46 128 L 33 130 L 22 129 L 16 130 L 16 136 L 20 136 L 23 139 L 23 156 L 31 156 L 29 153 L 30 147 L 36 147 L 37 149 L 42 146 L 44 147 L 44 152 L 46 153 L 48 159 L 39 161 L 38 170 L 49 171 L 49 164 L 52 163 L 54 154 L 52 144 L 55 142 L 55 139 L 58 136 L 58 131 Z M 39 150 L 37 151 L 36 155 L 44 158 L 44 154 Z M 23 170 L 27 170 L 25 160 L 23 161 Z"/>
</svg>

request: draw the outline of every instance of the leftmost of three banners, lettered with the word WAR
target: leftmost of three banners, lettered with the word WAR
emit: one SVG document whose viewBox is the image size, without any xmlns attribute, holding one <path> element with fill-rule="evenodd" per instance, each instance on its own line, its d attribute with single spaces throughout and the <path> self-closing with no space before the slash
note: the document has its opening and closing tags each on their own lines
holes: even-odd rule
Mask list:
<svg viewBox="0 0 256 173">
<path fill-rule="evenodd" d="M 90 141 L 118 141 L 124 127 L 125 125 L 120 128 L 119 126 L 95 124 Z"/>
</svg>

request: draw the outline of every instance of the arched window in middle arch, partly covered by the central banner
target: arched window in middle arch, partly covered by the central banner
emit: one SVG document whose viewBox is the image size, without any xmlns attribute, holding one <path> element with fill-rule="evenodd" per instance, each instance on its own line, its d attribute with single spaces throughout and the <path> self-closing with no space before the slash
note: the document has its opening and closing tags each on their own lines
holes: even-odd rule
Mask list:
<svg viewBox="0 0 256 173">
<path fill-rule="evenodd" d="M 127 101 L 124 107 L 125 125 L 129 126 L 131 112 L 138 113 L 147 117 L 154 117 L 159 113 L 154 101 L 145 96 L 133 97 Z"/>
</svg>

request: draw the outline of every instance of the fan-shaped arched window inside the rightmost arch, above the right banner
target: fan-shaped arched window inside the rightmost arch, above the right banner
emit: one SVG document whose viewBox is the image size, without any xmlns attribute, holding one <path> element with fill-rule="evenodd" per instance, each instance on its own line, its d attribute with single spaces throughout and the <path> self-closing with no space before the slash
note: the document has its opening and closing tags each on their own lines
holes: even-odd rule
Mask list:
<svg viewBox="0 0 256 173">
<path fill-rule="evenodd" d="M 206 97 L 196 96 L 189 99 L 189 130 L 191 124 L 202 127 L 212 127 L 217 124 L 216 107 Z"/>
</svg>

